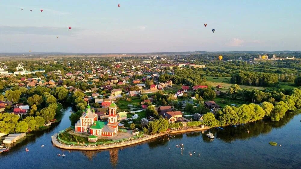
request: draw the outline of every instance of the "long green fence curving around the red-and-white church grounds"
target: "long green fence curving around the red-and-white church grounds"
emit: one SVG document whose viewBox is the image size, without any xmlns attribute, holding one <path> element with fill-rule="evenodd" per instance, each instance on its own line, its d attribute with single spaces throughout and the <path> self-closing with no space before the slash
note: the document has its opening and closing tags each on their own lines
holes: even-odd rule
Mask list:
<svg viewBox="0 0 301 169">
<path fill-rule="evenodd" d="M 111 144 L 111 143 L 120 143 L 120 142 L 124 142 L 124 141 L 129 141 L 129 140 L 133 140 L 133 139 L 137 139 L 139 137 L 142 137 L 144 135 L 144 133 L 141 131 L 140 135 L 138 136 L 134 136 L 134 137 L 129 137 L 129 138 L 125 138 L 125 139 L 121 139 L 121 140 L 112 140 L 112 141 L 104 141 L 104 142 L 93 142 L 93 143 L 79 143 L 79 142 L 69 142 L 69 141 L 65 141 L 63 139 L 61 139 L 59 137 L 59 135 L 61 133 L 64 133 L 66 130 L 61 130 L 58 134 L 57 134 L 57 140 L 59 140 L 62 143 L 65 144 L 69 144 L 69 145 L 106 145 L 106 144 Z"/>
</svg>

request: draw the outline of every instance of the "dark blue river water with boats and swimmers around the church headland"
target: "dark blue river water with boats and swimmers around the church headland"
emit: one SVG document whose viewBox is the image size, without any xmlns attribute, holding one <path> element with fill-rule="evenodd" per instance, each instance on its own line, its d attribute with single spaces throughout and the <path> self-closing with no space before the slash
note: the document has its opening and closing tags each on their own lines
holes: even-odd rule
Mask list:
<svg viewBox="0 0 301 169">
<path fill-rule="evenodd" d="M 213 140 L 204 131 L 120 149 L 69 151 L 54 147 L 51 135 L 70 126 L 70 110 L 48 131 L 35 132 L 0 154 L 0 168 L 301 168 L 301 114 L 288 113 L 280 122 L 263 120 L 211 129 Z M 281 146 L 270 146 L 269 141 Z M 183 155 L 176 147 L 180 143 L 184 144 Z M 57 156 L 62 153 L 66 156 Z"/>
</svg>

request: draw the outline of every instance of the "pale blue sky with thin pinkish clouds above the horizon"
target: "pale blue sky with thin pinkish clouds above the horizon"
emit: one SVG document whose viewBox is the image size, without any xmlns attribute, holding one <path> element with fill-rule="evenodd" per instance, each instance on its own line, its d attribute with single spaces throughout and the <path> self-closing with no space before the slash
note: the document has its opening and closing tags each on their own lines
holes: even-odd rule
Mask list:
<svg viewBox="0 0 301 169">
<path fill-rule="evenodd" d="M 300 0 L 0 0 L 0 53 L 300 51 L 300 6 Z"/>
</svg>

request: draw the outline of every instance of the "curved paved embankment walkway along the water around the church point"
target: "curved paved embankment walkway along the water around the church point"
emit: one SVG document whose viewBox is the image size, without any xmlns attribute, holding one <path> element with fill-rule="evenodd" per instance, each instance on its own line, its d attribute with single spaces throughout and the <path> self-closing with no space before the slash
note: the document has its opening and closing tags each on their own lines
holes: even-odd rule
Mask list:
<svg viewBox="0 0 301 169">
<path fill-rule="evenodd" d="M 138 144 L 147 140 L 151 140 L 157 137 L 164 136 L 166 134 L 176 134 L 176 133 L 185 133 L 185 132 L 191 132 L 191 131 L 202 131 L 202 130 L 208 130 L 209 128 L 189 128 L 189 129 L 183 129 L 183 130 L 174 130 L 174 131 L 169 131 L 163 134 L 154 134 L 154 135 L 147 135 L 144 134 L 144 137 L 137 138 L 135 140 L 131 141 L 126 141 L 126 142 L 121 142 L 121 143 L 113 143 L 113 144 L 108 144 L 108 145 L 93 145 L 93 146 L 73 146 L 73 145 L 66 145 L 62 144 L 57 140 L 57 133 L 51 136 L 51 141 L 52 144 L 56 147 L 59 147 L 61 149 L 72 149 L 72 150 L 102 150 L 102 149 L 113 149 L 113 148 L 119 148 L 123 146 L 130 146 L 134 144 Z"/>
</svg>

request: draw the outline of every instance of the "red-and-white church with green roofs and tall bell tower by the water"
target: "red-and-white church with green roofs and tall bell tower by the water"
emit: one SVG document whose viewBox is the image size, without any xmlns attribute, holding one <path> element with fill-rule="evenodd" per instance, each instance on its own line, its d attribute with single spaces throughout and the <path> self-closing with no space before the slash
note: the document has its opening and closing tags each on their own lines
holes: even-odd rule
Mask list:
<svg viewBox="0 0 301 169">
<path fill-rule="evenodd" d="M 97 136 L 107 136 L 113 137 L 118 131 L 118 121 L 117 121 L 117 106 L 112 101 L 109 109 L 109 120 L 108 122 L 98 121 L 98 116 L 95 111 L 91 111 L 90 105 L 87 109 L 83 111 L 82 116 L 79 121 L 75 124 L 75 132 L 78 133 L 90 133 Z"/>
</svg>

